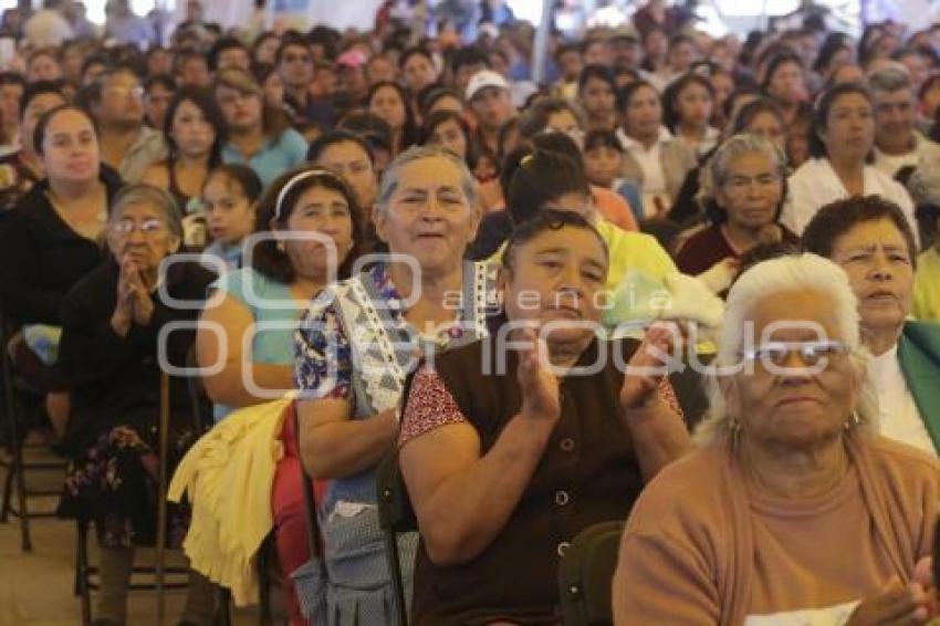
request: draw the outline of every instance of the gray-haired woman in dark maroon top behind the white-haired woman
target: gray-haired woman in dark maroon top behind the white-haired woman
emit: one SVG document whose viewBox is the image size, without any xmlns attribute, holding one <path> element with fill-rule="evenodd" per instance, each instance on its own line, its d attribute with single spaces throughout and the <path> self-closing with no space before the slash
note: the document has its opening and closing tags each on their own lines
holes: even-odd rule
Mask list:
<svg viewBox="0 0 940 626">
<path fill-rule="evenodd" d="M 777 222 L 786 185 L 783 153 L 759 135 L 735 135 L 721 144 L 702 170 L 700 202 L 711 226 L 685 240 L 676 253 L 679 271 L 698 275 L 718 265 L 727 270 L 717 292 L 731 284 L 741 254 L 759 243 L 796 243 Z"/>
</svg>

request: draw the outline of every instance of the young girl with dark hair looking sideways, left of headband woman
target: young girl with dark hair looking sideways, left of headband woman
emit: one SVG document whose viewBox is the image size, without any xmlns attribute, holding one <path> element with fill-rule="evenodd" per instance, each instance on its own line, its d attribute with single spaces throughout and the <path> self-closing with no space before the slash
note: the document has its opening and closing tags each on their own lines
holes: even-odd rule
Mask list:
<svg viewBox="0 0 940 626">
<path fill-rule="evenodd" d="M 246 165 L 213 169 L 202 186 L 202 210 L 212 243 L 203 251 L 229 270 L 242 265 L 242 240 L 254 229 L 261 179 Z"/>
</svg>

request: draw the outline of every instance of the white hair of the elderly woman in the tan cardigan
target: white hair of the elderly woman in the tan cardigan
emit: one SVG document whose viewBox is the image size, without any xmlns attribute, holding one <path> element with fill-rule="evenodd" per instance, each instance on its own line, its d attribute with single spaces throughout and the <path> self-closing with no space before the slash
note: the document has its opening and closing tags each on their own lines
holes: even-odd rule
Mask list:
<svg viewBox="0 0 940 626">
<path fill-rule="evenodd" d="M 836 263 L 823 257 L 790 254 L 753 265 L 741 274 L 728 293 L 718 354 L 713 362 L 716 368 L 707 380 L 711 400 L 709 414 L 694 434 L 699 444 L 718 440 L 731 431 L 731 416 L 718 380 L 722 368 L 733 367 L 741 361 L 745 322 L 754 306 L 767 298 L 796 290 L 824 294 L 832 301 L 832 310 L 838 321 L 838 336 L 835 338 L 848 347 L 853 375 L 863 392 L 856 413 L 866 427 L 877 424 L 877 399 L 866 394 L 866 386 L 863 385 L 870 355 L 861 345 L 858 300 L 848 277 Z M 796 320 L 800 313 L 793 312 L 792 315 Z"/>
</svg>

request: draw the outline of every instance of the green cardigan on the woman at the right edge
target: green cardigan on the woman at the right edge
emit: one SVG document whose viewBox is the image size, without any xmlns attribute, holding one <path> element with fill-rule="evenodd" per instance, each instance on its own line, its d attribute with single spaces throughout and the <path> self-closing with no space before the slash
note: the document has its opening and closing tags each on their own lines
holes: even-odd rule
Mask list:
<svg viewBox="0 0 940 626">
<path fill-rule="evenodd" d="M 898 361 L 933 449 L 940 452 L 940 324 L 906 322 Z"/>
</svg>

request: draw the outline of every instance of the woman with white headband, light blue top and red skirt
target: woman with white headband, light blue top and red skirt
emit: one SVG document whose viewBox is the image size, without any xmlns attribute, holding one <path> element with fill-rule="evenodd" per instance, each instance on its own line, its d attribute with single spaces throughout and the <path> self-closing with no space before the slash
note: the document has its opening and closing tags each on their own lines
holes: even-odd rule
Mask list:
<svg viewBox="0 0 940 626">
<path fill-rule="evenodd" d="M 226 274 L 213 285 L 222 293 L 221 300 L 200 317 L 200 366 L 212 368 L 226 346 L 222 367 L 203 377 L 206 390 L 216 403 L 217 421 L 234 408 L 270 400 L 294 388 L 293 336 L 301 313 L 331 279 L 348 278 L 363 248 L 363 218 L 352 189 L 338 175 L 305 166 L 281 176 L 265 192 L 255 233 L 271 237 L 251 248 L 250 267 Z M 280 238 L 282 233 L 284 239 Z M 321 242 L 296 238 L 313 233 L 333 241 L 338 268 L 330 267 L 330 253 Z M 257 327 L 261 324 L 276 326 Z M 243 354 L 243 340 L 249 334 L 251 353 Z M 246 386 L 247 376 L 261 395 Z M 271 505 L 279 561 L 289 580 L 310 555 L 292 422 L 288 420 L 278 435 L 285 453 L 272 477 Z M 241 440 L 229 445 L 241 445 Z M 291 624 L 303 623 L 292 585 L 289 611 Z"/>
</svg>

